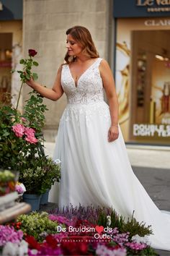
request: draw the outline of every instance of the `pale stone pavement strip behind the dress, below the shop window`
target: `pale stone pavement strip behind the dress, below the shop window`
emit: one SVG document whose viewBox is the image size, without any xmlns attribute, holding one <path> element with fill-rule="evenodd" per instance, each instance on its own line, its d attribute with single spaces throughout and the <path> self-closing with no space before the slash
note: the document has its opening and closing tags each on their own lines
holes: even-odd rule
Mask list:
<svg viewBox="0 0 170 256">
<path fill-rule="evenodd" d="M 53 157 L 55 143 L 45 142 L 45 153 Z M 127 145 L 132 166 L 166 168 L 170 171 L 170 147 Z"/>
</svg>

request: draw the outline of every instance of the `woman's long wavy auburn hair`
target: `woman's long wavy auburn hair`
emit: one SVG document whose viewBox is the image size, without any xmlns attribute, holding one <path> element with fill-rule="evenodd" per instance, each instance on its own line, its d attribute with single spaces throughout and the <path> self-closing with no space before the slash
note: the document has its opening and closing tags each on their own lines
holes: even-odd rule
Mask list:
<svg viewBox="0 0 170 256">
<path fill-rule="evenodd" d="M 85 56 L 89 58 L 99 58 L 99 54 L 97 52 L 96 47 L 94 46 L 94 42 L 91 38 L 91 34 L 86 27 L 82 26 L 74 26 L 69 28 L 66 31 L 66 35 L 71 35 L 77 43 L 79 43 L 83 48 L 83 53 Z M 64 58 L 66 64 L 69 64 L 76 60 L 75 56 L 69 56 L 68 52 Z"/>
</svg>

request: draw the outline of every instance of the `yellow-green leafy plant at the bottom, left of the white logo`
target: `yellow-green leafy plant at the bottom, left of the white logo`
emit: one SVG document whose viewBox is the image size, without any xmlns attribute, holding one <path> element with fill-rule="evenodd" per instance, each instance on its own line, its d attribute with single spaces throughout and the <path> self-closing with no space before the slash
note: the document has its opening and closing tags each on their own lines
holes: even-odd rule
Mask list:
<svg viewBox="0 0 170 256">
<path fill-rule="evenodd" d="M 38 242 L 42 242 L 45 234 L 57 233 L 58 223 L 56 221 L 50 221 L 48 213 L 36 213 L 32 212 L 29 215 L 20 215 L 17 221 L 22 222 L 21 230 L 24 234 L 34 236 Z"/>
</svg>

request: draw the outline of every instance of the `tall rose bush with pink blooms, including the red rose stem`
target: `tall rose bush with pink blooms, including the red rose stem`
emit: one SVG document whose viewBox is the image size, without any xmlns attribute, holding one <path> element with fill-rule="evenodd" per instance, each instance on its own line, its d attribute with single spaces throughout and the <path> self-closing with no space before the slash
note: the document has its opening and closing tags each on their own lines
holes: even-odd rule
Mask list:
<svg viewBox="0 0 170 256">
<path fill-rule="evenodd" d="M 37 52 L 29 50 L 29 57 L 20 60 L 23 70 L 17 71 L 23 83 L 30 77 L 37 78 L 36 73 L 32 73 L 32 66 L 37 66 L 37 61 L 33 60 Z M 14 72 L 14 70 L 13 70 Z M 42 128 L 45 124 L 44 113 L 47 110 L 42 103 L 42 97 L 32 91 L 30 98 L 24 106 L 23 114 L 17 110 L 19 98 L 22 90 L 19 90 L 17 106 L 14 108 L 6 101 L 0 102 L 0 167 L 19 170 L 27 155 L 40 153 L 43 145 Z M 41 150 L 42 152 L 42 150 Z"/>
</svg>

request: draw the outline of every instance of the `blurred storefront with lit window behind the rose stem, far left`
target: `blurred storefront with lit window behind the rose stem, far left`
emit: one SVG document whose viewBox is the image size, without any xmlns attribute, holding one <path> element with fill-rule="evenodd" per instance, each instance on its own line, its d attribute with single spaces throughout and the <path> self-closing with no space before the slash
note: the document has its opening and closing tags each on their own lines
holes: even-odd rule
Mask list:
<svg viewBox="0 0 170 256">
<path fill-rule="evenodd" d="M 22 46 L 22 0 L 0 1 L 0 101 L 4 93 L 16 94 L 19 81 L 11 70 L 17 65 Z M 14 88 L 15 87 L 15 88 Z"/>
</svg>

